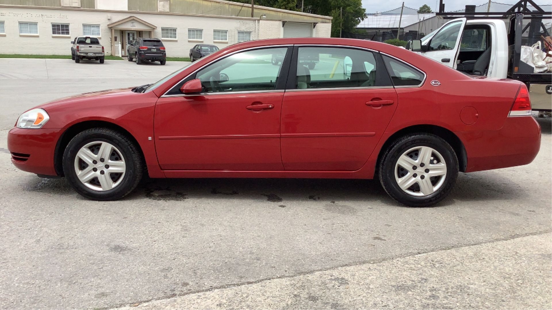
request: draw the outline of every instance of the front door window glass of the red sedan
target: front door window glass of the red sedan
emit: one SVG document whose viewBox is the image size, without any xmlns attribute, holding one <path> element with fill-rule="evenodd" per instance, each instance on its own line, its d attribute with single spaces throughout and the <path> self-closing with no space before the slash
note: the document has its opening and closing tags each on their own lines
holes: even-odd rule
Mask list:
<svg viewBox="0 0 552 310">
<path fill-rule="evenodd" d="M 208 93 L 273 90 L 282 63 L 274 66 L 272 55 L 285 55 L 287 50 L 287 47 L 275 47 L 233 54 L 203 68 L 195 78 L 201 80 Z"/>
</svg>

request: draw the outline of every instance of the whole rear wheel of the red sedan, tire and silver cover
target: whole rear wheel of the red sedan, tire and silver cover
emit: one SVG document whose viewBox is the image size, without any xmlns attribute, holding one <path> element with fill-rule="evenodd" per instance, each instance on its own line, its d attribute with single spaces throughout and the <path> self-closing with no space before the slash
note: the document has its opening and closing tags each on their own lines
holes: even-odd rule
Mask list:
<svg viewBox="0 0 552 310">
<path fill-rule="evenodd" d="M 379 164 L 379 177 L 385 191 L 401 204 L 430 206 L 452 190 L 458 158 L 439 136 L 413 133 L 389 146 Z"/>
</svg>

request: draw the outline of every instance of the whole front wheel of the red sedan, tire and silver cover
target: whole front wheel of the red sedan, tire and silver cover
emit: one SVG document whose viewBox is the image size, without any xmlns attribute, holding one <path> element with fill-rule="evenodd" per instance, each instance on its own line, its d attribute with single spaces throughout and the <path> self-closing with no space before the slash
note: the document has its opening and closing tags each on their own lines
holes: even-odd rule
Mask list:
<svg viewBox="0 0 552 310">
<path fill-rule="evenodd" d="M 63 154 L 63 173 L 77 193 L 93 200 L 117 200 L 142 178 L 140 152 L 127 136 L 107 128 L 78 133 Z"/>
</svg>

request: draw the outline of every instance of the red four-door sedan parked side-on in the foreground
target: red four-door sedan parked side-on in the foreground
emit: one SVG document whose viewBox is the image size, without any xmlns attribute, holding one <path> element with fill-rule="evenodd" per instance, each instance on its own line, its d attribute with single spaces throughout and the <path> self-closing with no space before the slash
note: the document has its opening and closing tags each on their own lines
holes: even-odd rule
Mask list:
<svg viewBox="0 0 552 310">
<path fill-rule="evenodd" d="M 232 45 L 154 84 L 37 106 L 8 135 L 15 166 L 65 176 L 94 200 L 120 199 L 144 173 L 376 177 L 402 204 L 427 206 L 458 171 L 528 164 L 539 147 L 521 82 L 321 38 Z"/>
</svg>

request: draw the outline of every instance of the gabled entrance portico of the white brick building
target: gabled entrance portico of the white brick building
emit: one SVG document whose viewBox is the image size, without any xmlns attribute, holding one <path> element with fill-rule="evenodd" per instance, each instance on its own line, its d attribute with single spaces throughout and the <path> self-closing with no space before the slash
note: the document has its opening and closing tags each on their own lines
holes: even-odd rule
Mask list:
<svg viewBox="0 0 552 310">
<path fill-rule="evenodd" d="M 128 56 L 126 53 L 130 41 L 136 38 L 151 38 L 157 26 L 135 16 L 129 16 L 107 25 L 111 30 L 112 55 Z"/>
</svg>

